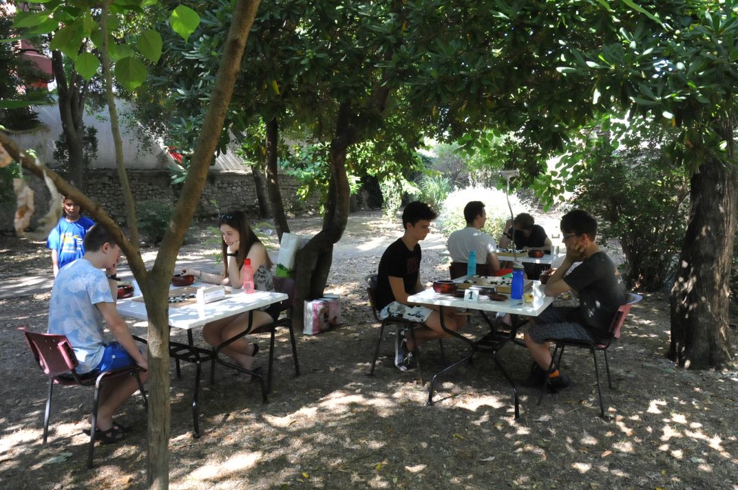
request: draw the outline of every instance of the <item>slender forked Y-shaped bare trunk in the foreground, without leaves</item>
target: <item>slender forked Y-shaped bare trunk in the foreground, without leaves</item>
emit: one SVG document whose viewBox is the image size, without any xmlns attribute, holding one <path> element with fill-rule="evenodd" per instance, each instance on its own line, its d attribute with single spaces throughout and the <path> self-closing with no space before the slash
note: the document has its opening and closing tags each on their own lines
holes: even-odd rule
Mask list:
<svg viewBox="0 0 738 490">
<path fill-rule="evenodd" d="M 131 244 L 105 210 L 69 182 L 61 179 L 53 170 L 49 170 L 45 165 L 36 165 L 35 159 L 0 133 L 0 143 L 13 159 L 37 176 L 48 175 L 61 193 L 79 202 L 95 221 L 102 223 L 112 232 L 141 286 L 149 317 L 148 367 L 151 403 L 148 412 L 148 486 L 150 489 L 167 489 L 169 486 L 169 321 L 168 303 L 165 298 L 169 291 L 169 281 L 174 271 L 179 246 L 205 185 L 207 171 L 223 128 L 236 75 L 241 66 L 241 57 L 259 3 L 260 0 L 239 0 L 235 5 L 192 165 L 187 171 L 187 179 L 176 203 L 170 226 L 165 231 L 162 243 L 159 244 L 159 253 L 156 255 L 151 272 L 146 271 L 143 260 L 137 253 L 137 247 Z"/>
</svg>

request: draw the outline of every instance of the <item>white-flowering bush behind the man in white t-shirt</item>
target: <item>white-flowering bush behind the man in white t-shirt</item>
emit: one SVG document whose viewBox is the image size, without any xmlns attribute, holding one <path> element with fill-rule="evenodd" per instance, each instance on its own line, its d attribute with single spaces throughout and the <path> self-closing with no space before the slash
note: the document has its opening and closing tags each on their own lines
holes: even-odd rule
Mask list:
<svg viewBox="0 0 738 490">
<path fill-rule="evenodd" d="M 455 190 L 446 196 L 441 212 L 438 215 L 438 228 L 446 237 L 456 230 L 466 227 L 463 208 L 469 201 L 482 201 L 487 213 L 487 222 L 483 230 L 497 240 L 503 232 L 505 222 L 510 219 L 510 210 L 505 191 L 486 187 L 466 187 Z M 523 204 L 517 196 L 510 196 L 510 204 L 514 214 L 523 210 Z"/>
</svg>

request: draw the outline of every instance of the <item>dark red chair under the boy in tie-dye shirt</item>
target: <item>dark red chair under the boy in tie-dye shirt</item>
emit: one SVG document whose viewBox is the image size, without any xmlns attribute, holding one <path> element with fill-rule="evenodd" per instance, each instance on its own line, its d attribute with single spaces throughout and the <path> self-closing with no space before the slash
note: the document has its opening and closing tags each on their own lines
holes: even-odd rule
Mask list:
<svg viewBox="0 0 738 490">
<path fill-rule="evenodd" d="M 51 396 L 55 384 L 63 386 L 94 386 L 93 402 L 92 402 L 92 428 L 90 429 L 90 442 L 87 452 L 87 467 L 92 468 L 92 458 L 94 453 L 94 435 L 97 427 L 97 406 L 100 402 L 100 385 L 111 379 L 120 379 L 124 376 L 136 376 L 139 390 L 143 398 L 143 406 L 148 409 L 146 401 L 146 392 L 139 372 L 142 368 L 134 366 L 121 367 L 120 369 L 99 373 L 79 374 L 77 366 L 80 364 L 69 345 L 66 335 L 55 334 L 36 334 L 28 331 L 25 327 L 18 328 L 26 337 L 28 348 L 30 348 L 33 358 L 44 374 L 49 377 L 49 390 L 46 395 L 46 413 L 44 414 L 44 444 L 49 434 L 49 413 L 51 412 Z"/>
</svg>

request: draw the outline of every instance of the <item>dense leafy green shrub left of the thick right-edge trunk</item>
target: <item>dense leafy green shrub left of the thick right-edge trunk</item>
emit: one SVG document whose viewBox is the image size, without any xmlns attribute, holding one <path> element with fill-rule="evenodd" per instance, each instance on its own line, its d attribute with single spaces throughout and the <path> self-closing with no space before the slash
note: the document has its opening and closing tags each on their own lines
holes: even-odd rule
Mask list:
<svg viewBox="0 0 738 490">
<path fill-rule="evenodd" d="M 565 174 L 569 160 L 584 167 L 567 180 L 574 192 L 568 206 L 590 210 L 599 218 L 601 239 L 620 241 L 629 285 L 658 291 L 674 280 L 689 211 L 689 179 L 669 153 L 672 128 L 634 127 L 624 140 L 613 139 L 600 124 L 587 128 L 567 145 L 561 167 Z"/>
</svg>

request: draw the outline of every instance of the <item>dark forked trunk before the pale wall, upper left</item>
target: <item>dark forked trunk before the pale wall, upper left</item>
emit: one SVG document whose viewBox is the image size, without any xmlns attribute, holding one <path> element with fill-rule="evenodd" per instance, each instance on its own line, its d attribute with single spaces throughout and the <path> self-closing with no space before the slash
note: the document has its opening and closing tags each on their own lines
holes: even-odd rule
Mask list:
<svg viewBox="0 0 738 490">
<path fill-rule="evenodd" d="M 82 117 L 87 96 L 87 83 L 73 69 L 67 80 L 61 52 L 52 51 L 51 60 L 59 94 L 61 128 L 66 137 L 66 149 L 69 154 L 69 182 L 77 189 L 81 189 L 84 184 L 84 123 Z"/>
</svg>

